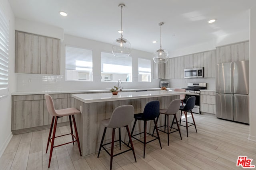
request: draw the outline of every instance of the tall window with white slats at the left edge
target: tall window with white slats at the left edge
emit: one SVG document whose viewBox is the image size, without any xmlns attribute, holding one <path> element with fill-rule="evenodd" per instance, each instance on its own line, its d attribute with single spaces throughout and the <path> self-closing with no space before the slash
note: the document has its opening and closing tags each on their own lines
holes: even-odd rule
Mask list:
<svg viewBox="0 0 256 170">
<path fill-rule="evenodd" d="M 8 95 L 9 21 L 0 9 L 0 98 Z"/>
</svg>

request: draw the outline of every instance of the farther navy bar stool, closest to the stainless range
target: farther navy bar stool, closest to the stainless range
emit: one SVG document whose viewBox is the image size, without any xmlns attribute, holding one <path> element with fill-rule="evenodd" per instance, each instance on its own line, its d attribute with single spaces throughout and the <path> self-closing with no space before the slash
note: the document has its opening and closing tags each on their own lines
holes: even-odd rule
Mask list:
<svg viewBox="0 0 256 170">
<path fill-rule="evenodd" d="M 186 127 L 186 129 L 187 129 L 187 137 L 188 137 L 188 127 L 194 125 L 195 129 L 196 129 L 196 123 L 195 123 L 193 112 L 192 112 L 192 109 L 195 107 L 195 104 L 196 104 L 196 97 L 195 96 L 191 96 L 186 101 L 186 105 L 185 106 L 180 106 L 180 115 L 182 115 L 182 111 L 183 111 L 184 114 L 185 114 L 185 118 L 186 118 L 186 121 L 183 121 L 183 122 L 186 122 L 186 126 L 181 125 L 181 121 L 182 121 L 181 118 L 180 118 L 180 126 Z M 192 116 L 192 119 L 193 119 L 193 123 L 188 122 L 188 111 L 190 111 L 190 113 L 191 113 L 191 116 Z M 190 123 L 191 125 L 188 126 L 188 123 Z M 196 130 L 196 133 L 197 133 L 197 130 Z"/>
</svg>

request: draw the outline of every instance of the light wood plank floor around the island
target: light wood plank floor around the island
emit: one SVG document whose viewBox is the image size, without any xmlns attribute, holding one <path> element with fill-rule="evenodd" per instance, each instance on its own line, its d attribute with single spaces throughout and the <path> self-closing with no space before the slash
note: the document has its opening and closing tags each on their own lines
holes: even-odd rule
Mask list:
<svg viewBox="0 0 256 170">
<path fill-rule="evenodd" d="M 118 170 L 179 170 L 179 169 L 243 169 L 237 167 L 238 156 L 252 158 L 256 165 L 256 143 L 248 141 L 249 126 L 215 118 L 213 115 L 194 114 L 198 129 L 193 126 L 182 129 L 182 140 L 178 132 L 170 135 L 170 146 L 167 135 L 160 133 L 162 150 L 158 141 L 146 145 L 146 156 L 143 158 L 143 144 L 134 141 L 137 162 L 132 152 L 114 157 L 113 169 Z M 102 127 L 103 128 L 103 127 Z M 45 154 L 49 130 L 35 131 L 14 135 L 0 158 L 0 169 L 3 170 L 42 170 L 48 169 L 49 154 Z M 65 134 L 69 127 L 59 127 L 57 133 Z M 68 136 L 69 137 L 69 136 Z M 71 137 L 70 137 L 71 138 Z M 148 137 L 150 138 L 150 137 Z M 67 137 L 56 140 L 57 143 L 69 141 Z M 125 149 L 122 146 L 122 149 Z M 118 147 L 115 152 L 120 152 Z M 80 157 L 77 145 L 57 147 L 52 156 L 50 169 L 56 170 L 105 170 L 110 167 L 110 156 L 102 151 Z"/>
</svg>

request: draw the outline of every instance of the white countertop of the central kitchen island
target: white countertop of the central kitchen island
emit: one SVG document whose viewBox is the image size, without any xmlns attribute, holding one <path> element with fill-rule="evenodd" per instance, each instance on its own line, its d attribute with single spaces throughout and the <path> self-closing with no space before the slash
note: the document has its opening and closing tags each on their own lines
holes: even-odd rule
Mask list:
<svg viewBox="0 0 256 170">
<path fill-rule="evenodd" d="M 112 95 L 112 93 L 96 93 L 96 94 L 73 94 L 72 97 L 80 100 L 84 103 L 94 103 L 94 102 L 108 102 L 116 100 L 130 100 L 130 99 L 141 99 L 141 98 L 152 98 L 152 97 L 162 97 L 162 96 L 174 96 L 180 94 L 186 94 L 187 92 L 172 92 L 161 90 L 156 91 L 144 91 L 144 92 L 118 92 L 117 95 Z"/>
</svg>

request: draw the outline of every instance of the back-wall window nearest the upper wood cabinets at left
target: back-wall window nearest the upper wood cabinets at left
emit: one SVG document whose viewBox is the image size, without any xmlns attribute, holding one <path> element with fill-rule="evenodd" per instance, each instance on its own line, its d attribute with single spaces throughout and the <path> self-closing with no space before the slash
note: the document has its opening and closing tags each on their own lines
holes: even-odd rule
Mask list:
<svg viewBox="0 0 256 170">
<path fill-rule="evenodd" d="M 92 81 L 92 51 L 66 46 L 66 80 Z"/>
</svg>

